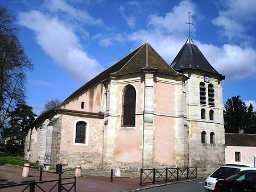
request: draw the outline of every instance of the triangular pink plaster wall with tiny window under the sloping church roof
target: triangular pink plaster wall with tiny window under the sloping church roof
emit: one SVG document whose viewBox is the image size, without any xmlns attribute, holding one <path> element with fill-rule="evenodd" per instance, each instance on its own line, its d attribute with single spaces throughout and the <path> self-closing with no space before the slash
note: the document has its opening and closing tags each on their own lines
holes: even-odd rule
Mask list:
<svg viewBox="0 0 256 192">
<path fill-rule="evenodd" d="M 76 111 L 100 112 L 101 87 L 102 84 L 98 84 L 61 108 Z M 84 102 L 84 108 L 81 108 L 81 102 Z"/>
</svg>

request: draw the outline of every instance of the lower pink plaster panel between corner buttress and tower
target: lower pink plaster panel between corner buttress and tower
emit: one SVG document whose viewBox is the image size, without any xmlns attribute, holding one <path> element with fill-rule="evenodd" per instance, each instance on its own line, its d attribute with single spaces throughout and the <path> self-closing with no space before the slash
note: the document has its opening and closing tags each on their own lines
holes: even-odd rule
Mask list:
<svg viewBox="0 0 256 192">
<path fill-rule="evenodd" d="M 154 164 L 175 165 L 174 119 L 154 116 Z"/>
</svg>

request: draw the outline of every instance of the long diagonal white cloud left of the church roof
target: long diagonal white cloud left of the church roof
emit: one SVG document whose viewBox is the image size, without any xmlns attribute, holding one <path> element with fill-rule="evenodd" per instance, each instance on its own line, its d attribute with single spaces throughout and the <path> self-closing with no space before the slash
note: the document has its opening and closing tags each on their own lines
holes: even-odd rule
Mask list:
<svg viewBox="0 0 256 192">
<path fill-rule="evenodd" d="M 36 42 L 78 81 L 87 81 L 102 71 L 96 59 L 82 49 L 79 37 L 57 17 L 32 10 L 19 14 L 19 24 L 35 32 Z"/>
</svg>

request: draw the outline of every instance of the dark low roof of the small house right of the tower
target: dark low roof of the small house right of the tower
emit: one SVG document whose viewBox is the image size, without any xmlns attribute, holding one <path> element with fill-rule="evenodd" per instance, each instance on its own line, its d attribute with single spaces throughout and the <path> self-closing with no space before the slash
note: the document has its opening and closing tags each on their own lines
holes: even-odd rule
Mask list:
<svg viewBox="0 0 256 192">
<path fill-rule="evenodd" d="M 256 147 L 256 134 L 225 133 L 225 145 Z"/>
</svg>

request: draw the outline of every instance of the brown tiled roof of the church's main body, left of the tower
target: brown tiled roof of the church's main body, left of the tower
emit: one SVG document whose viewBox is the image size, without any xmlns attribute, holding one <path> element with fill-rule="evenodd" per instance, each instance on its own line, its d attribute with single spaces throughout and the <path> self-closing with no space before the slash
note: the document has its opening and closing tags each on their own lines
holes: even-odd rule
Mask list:
<svg viewBox="0 0 256 192">
<path fill-rule="evenodd" d="M 158 73 L 168 74 L 171 76 L 183 76 L 183 74 L 172 69 L 167 62 L 158 55 L 150 44 L 145 43 L 122 60 L 110 66 L 110 68 L 104 70 L 104 72 L 98 74 L 98 76 L 88 81 L 85 85 L 81 86 L 74 93 L 69 95 L 69 97 L 65 99 L 64 103 L 78 97 L 93 86 L 104 81 L 110 75 L 121 76 L 123 74 L 138 73 L 141 72 L 143 68 L 156 70 Z"/>
</svg>

